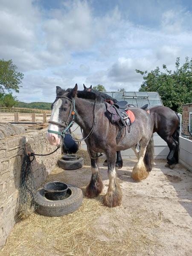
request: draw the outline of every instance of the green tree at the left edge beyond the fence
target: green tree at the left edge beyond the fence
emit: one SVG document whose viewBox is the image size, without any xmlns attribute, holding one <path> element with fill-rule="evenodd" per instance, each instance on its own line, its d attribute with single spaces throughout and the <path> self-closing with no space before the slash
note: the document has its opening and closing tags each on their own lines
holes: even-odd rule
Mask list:
<svg viewBox="0 0 192 256">
<path fill-rule="evenodd" d="M 5 90 L 15 90 L 18 93 L 22 79 L 23 73 L 17 72 L 17 66 L 12 60 L 0 59 L 0 93 L 4 93 Z"/>
</svg>

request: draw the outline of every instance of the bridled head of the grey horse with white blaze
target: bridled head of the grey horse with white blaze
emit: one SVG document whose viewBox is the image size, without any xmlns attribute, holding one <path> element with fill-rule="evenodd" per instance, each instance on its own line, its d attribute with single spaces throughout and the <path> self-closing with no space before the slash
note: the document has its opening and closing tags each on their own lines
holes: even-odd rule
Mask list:
<svg viewBox="0 0 192 256">
<path fill-rule="evenodd" d="M 73 119 L 73 102 L 77 94 L 77 84 L 73 89 L 63 90 L 57 86 L 56 99 L 51 105 L 47 139 L 51 145 L 59 145 L 59 135 Z M 55 132 L 55 133 L 54 133 Z"/>
</svg>

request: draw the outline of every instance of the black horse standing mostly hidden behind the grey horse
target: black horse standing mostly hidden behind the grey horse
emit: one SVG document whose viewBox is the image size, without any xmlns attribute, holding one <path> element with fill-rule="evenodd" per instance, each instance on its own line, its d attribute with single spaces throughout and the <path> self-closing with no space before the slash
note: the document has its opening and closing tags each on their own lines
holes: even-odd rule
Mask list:
<svg viewBox="0 0 192 256">
<path fill-rule="evenodd" d="M 84 84 L 83 84 L 84 85 Z M 97 95 L 101 95 L 104 100 L 110 99 L 116 103 L 116 99 L 108 96 L 106 93 L 101 93 L 99 91 L 93 90 L 92 86 L 87 88 L 84 85 L 84 90 L 91 91 Z M 169 147 L 169 154 L 167 156 L 166 167 L 173 169 L 175 165 L 179 162 L 179 132 L 180 132 L 180 119 L 178 114 L 170 108 L 164 106 L 156 106 L 149 109 L 150 115 L 154 121 L 153 132 L 157 134 L 166 141 Z M 135 152 L 137 153 L 137 152 Z M 117 152 L 116 158 L 116 169 L 122 168 L 122 157 L 121 152 Z M 104 165 L 107 166 L 107 160 L 105 160 Z"/>
</svg>

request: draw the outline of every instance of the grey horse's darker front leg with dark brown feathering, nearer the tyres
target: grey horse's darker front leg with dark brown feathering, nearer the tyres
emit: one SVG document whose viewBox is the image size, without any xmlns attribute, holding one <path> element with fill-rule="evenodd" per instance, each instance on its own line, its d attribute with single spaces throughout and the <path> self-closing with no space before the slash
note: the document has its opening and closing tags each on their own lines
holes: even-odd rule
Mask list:
<svg viewBox="0 0 192 256">
<path fill-rule="evenodd" d="M 93 153 L 90 151 L 91 157 L 97 157 L 97 153 Z M 90 183 L 87 185 L 85 190 L 85 196 L 88 198 L 94 198 L 98 196 L 103 189 L 102 178 L 99 175 L 99 168 L 98 168 L 98 158 L 92 159 L 91 158 L 91 180 Z"/>
</svg>

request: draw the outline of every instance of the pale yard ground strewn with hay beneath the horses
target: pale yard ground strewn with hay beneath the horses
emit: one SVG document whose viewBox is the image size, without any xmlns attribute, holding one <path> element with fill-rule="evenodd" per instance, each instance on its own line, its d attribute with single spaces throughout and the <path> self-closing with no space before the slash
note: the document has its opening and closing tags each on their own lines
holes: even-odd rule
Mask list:
<svg viewBox="0 0 192 256">
<path fill-rule="evenodd" d="M 122 188 L 120 207 L 105 207 L 102 196 L 99 196 L 95 199 L 84 198 L 82 206 L 71 215 L 50 218 L 33 214 L 29 220 L 15 225 L 1 255 L 191 256 L 192 173 L 179 164 L 174 170 L 170 170 L 164 167 L 165 163 L 164 160 L 156 160 L 149 177 L 136 182 L 131 178 L 135 160 L 124 160 L 123 168 L 117 170 Z M 107 168 L 102 163 L 100 173 L 104 195 L 108 189 L 108 175 Z M 57 167 L 49 175 L 47 181 L 49 180 L 63 180 L 81 187 L 84 192 L 90 180 L 90 167 L 84 166 L 74 171 Z M 94 207 L 91 208 L 93 204 Z M 82 212 L 82 217 L 76 219 Z M 49 236 L 40 224 L 41 219 L 46 219 L 46 225 L 50 226 Z M 69 223 L 72 226 L 79 223 L 84 225 L 91 220 L 90 224 L 83 226 L 86 233 L 85 230 L 81 230 L 78 235 L 74 233 L 73 246 L 70 245 L 70 248 L 63 244 L 64 238 L 52 234 L 55 221 L 57 230 L 62 230 L 64 221 L 69 219 L 73 222 Z M 19 238 L 17 232 L 20 232 Z M 92 240 L 89 240 L 90 237 Z M 30 243 L 28 239 L 31 239 Z M 37 250 L 38 244 L 41 244 L 41 251 Z"/>
</svg>

